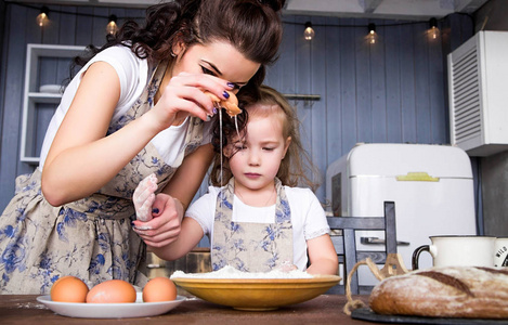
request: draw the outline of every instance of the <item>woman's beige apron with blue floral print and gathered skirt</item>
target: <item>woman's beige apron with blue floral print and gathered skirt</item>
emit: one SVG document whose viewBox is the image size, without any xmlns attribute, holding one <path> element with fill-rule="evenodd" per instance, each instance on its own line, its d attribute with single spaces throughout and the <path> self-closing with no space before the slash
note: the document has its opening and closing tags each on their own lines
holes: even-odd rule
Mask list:
<svg viewBox="0 0 508 325">
<path fill-rule="evenodd" d="M 142 116 L 153 106 L 167 62 L 152 70 L 151 80 L 135 104 L 108 134 Z M 37 169 L 16 180 L 16 194 L 0 219 L 0 294 L 48 294 L 64 275 L 83 280 L 89 287 L 120 278 L 143 286 L 146 246 L 131 229 L 135 219 L 132 194 L 149 173 L 158 188 L 171 180 L 184 156 L 203 140 L 203 121 L 191 117 L 185 145 L 172 167 L 148 143 L 97 193 L 61 207 L 42 196 Z"/>
</svg>

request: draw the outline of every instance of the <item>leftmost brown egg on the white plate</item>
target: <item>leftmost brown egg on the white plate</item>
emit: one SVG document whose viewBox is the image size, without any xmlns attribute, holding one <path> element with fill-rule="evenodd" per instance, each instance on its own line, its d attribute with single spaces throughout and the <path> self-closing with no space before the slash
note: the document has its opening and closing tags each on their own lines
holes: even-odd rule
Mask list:
<svg viewBox="0 0 508 325">
<path fill-rule="evenodd" d="M 71 275 L 66 275 L 51 287 L 51 300 L 60 302 L 84 302 L 89 289 L 84 282 Z"/>
</svg>

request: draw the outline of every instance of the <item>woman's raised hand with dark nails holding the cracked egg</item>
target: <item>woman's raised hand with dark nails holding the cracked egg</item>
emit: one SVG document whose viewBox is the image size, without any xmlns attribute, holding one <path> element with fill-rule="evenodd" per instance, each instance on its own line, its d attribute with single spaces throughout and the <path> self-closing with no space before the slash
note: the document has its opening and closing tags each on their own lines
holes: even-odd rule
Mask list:
<svg viewBox="0 0 508 325">
<path fill-rule="evenodd" d="M 161 96 L 154 109 L 151 109 L 154 122 L 164 130 L 175 120 L 183 120 L 190 115 L 207 120 L 208 116 L 214 115 L 216 109 L 205 91 L 227 100 L 226 90 L 231 89 L 227 81 L 210 75 L 180 73 L 160 90 Z"/>
</svg>

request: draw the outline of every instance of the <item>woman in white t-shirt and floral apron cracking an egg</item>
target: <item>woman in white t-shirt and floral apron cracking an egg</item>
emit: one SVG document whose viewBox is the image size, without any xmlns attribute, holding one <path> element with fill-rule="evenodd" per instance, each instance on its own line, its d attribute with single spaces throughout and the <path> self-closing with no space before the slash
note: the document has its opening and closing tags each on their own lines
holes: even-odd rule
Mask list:
<svg viewBox="0 0 508 325">
<path fill-rule="evenodd" d="M 0 219 L 0 290 L 45 294 L 63 275 L 143 285 L 131 200 L 146 176 L 171 199 L 143 226 L 172 240 L 212 158 L 213 104 L 256 88 L 282 39 L 284 1 L 177 0 L 126 23 L 68 84 L 39 168 Z M 95 54 L 96 53 L 96 54 Z"/>
</svg>

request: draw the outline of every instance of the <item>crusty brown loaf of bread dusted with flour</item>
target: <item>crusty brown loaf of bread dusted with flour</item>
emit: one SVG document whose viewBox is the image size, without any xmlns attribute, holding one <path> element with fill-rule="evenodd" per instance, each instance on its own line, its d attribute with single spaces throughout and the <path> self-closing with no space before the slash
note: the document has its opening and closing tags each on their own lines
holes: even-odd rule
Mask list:
<svg viewBox="0 0 508 325">
<path fill-rule="evenodd" d="M 379 314 L 508 318 L 508 270 L 430 268 L 388 277 L 372 291 Z"/>
</svg>

